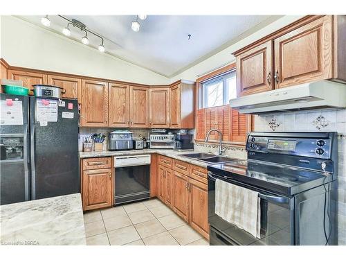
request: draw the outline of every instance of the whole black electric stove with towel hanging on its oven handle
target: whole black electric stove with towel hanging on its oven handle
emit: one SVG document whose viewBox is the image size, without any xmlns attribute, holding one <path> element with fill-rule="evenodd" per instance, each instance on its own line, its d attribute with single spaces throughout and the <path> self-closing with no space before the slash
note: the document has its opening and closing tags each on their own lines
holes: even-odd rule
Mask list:
<svg viewBox="0 0 346 260">
<path fill-rule="evenodd" d="M 336 132 L 251 132 L 247 160 L 208 166 L 210 245 L 336 245 L 337 141 Z M 260 238 L 215 213 L 216 180 L 258 193 Z"/>
</svg>

